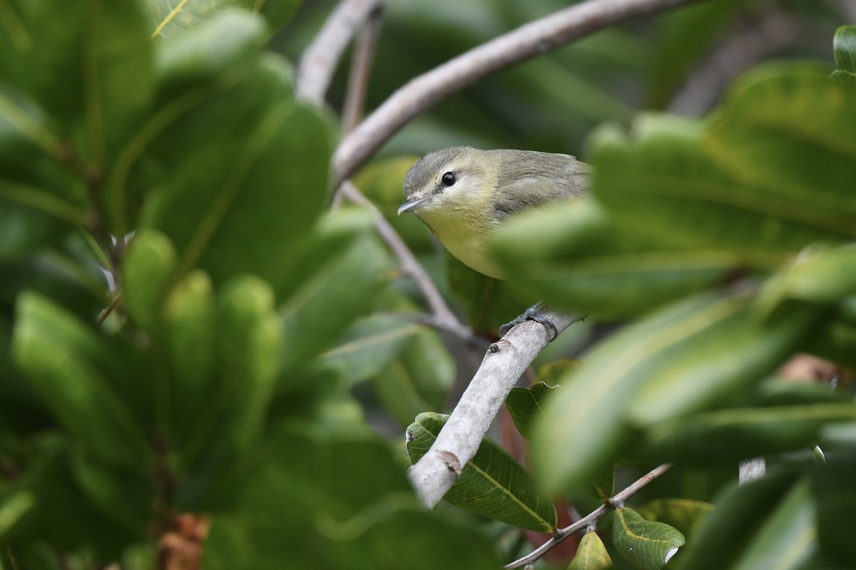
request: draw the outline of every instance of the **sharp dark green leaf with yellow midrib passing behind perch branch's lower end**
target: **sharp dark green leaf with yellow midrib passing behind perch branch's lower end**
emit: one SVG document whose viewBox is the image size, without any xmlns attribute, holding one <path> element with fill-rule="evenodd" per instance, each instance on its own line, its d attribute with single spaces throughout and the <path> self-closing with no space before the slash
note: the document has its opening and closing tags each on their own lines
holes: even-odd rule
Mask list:
<svg viewBox="0 0 856 570">
<path fill-rule="evenodd" d="M 407 427 L 407 453 L 413 463 L 431 449 L 446 418 L 431 412 L 419 414 Z M 531 531 L 556 528 L 553 502 L 538 491 L 514 457 L 487 438 L 444 498 L 457 507 Z"/>
</svg>

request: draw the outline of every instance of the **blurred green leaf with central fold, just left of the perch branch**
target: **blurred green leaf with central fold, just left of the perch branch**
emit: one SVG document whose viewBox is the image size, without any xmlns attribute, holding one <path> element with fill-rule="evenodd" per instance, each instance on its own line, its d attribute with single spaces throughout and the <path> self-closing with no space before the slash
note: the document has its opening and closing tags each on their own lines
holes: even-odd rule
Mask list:
<svg viewBox="0 0 856 570">
<path fill-rule="evenodd" d="M 421 412 L 442 410 L 454 382 L 449 350 L 437 332 L 423 329 L 372 385 L 383 408 L 407 426 Z"/>
</svg>

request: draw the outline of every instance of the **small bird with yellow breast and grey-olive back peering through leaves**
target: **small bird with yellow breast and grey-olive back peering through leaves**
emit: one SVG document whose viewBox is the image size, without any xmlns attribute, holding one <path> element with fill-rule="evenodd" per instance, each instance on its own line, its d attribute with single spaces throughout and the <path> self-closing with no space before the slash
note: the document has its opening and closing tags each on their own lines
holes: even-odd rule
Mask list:
<svg viewBox="0 0 856 570">
<path fill-rule="evenodd" d="M 453 256 L 502 279 L 487 250 L 490 233 L 509 215 L 580 196 L 591 172 L 574 156 L 534 150 L 437 150 L 404 177 L 398 214 L 414 212 Z"/>
</svg>

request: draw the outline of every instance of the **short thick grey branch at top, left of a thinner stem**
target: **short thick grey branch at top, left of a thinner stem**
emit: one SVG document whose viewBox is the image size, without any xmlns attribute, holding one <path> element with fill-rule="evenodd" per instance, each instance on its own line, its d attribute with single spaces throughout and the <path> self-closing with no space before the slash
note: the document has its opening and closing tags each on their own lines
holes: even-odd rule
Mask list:
<svg viewBox="0 0 856 570">
<path fill-rule="evenodd" d="M 369 16 L 383 5 L 383 0 L 342 0 L 333 10 L 321 31 L 300 58 L 297 72 L 297 96 L 316 105 L 324 95 L 342 53 Z"/>
</svg>

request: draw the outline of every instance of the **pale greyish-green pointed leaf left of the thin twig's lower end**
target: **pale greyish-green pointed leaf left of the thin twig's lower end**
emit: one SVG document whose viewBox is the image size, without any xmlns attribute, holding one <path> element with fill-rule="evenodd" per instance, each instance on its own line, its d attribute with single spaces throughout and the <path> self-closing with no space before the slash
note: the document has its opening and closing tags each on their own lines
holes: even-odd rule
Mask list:
<svg viewBox="0 0 856 570">
<path fill-rule="evenodd" d="M 342 340 L 321 355 L 325 367 L 354 385 L 389 367 L 421 326 L 394 315 L 372 314 L 354 323 Z"/>
</svg>

